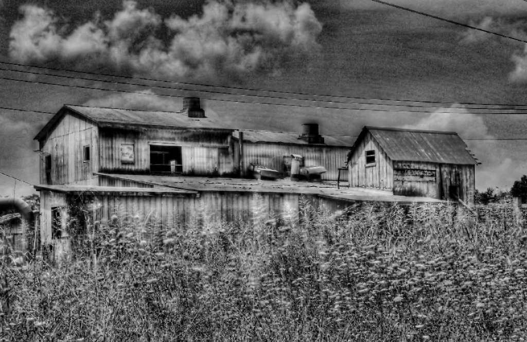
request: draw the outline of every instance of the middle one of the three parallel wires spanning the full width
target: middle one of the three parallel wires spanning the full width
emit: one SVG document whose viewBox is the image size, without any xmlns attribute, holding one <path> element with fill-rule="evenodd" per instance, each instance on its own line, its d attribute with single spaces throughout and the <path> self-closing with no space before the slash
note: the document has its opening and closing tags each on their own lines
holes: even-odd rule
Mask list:
<svg viewBox="0 0 527 342">
<path fill-rule="evenodd" d="M 416 104 L 383 104 L 383 103 L 352 102 L 352 101 L 338 101 L 338 100 L 297 99 L 296 97 L 286 97 L 286 96 L 251 95 L 251 94 L 229 93 L 229 92 L 220 92 L 220 91 L 212 91 L 212 90 L 195 90 L 195 89 L 178 88 L 178 87 L 170 87 L 170 86 L 159 86 L 159 85 L 147 85 L 147 84 L 130 83 L 130 82 L 97 80 L 97 79 L 90 79 L 90 78 L 78 77 L 78 76 L 55 75 L 55 74 L 43 73 L 43 72 L 33 72 L 33 71 L 25 71 L 25 70 L 6 69 L 6 68 L 3 68 L 3 67 L 0 67 L 0 71 L 18 72 L 18 73 L 32 74 L 32 75 L 44 75 L 44 76 L 51 76 L 51 77 L 62 77 L 64 79 L 94 81 L 94 82 L 103 82 L 103 83 L 111 83 L 111 84 L 119 84 L 119 85 L 146 86 L 146 87 L 151 87 L 151 88 L 168 89 L 168 90 L 194 91 L 194 92 L 200 92 L 200 93 L 211 93 L 211 94 L 222 94 L 222 95 L 236 95 L 236 96 L 248 96 L 248 97 L 263 97 L 265 99 L 324 102 L 324 103 L 347 103 L 347 104 L 355 104 L 355 105 L 372 105 L 372 106 L 396 106 L 396 107 L 409 107 L 409 108 L 435 108 L 435 109 L 444 108 L 444 106 L 426 106 L 426 105 L 416 105 Z M 505 110 L 516 110 L 516 109 L 519 109 L 517 107 L 520 107 L 520 106 L 527 107 L 527 105 L 515 105 L 515 107 L 516 107 L 515 109 L 508 108 L 508 109 L 505 109 Z M 454 109 L 456 109 L 456 108 L 454 108 Z M 491 110 L 493 108 L 471 107 L 471 108 L 467 108 L 467 109 L 471 109 L 471 110 L 472 109 Z M 525 108 L 525 109 L 527 109 L 527 108 Z"/>
</svg>

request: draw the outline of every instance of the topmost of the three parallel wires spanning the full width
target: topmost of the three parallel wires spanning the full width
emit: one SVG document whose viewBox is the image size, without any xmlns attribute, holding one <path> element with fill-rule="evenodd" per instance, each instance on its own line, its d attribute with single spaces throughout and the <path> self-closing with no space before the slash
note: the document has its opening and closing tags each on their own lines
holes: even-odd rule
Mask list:
<svg viewBox="0 0 527 342">
<path fill-rule="evenodd" d="M 525 1 L 527 1 L 527 0 L 525 0 Z M 211 85 L 211 84 L 203 84 L 203 83 L 176 82 L 176 81 L 167 81 L 167 80 L 159 80 L 159 79 L 148 79 L 148 78 L 145 78 L 145 77 L 133 77 L 133 76 L 122 76 L 122 75 L 104 74 L 104 73 L 95 73 L 95 72 L 86 72 L 86 71 L 75 71 L 75 70 L 69 70 L 69 69 L 60 69 L 60 68 L 48 67 L 48 66 L 47 67 L 35 66 L 35 65 L 28 65 L 28 64 L 21 64 L 21 63 L 12 63 L 12 62 L 2 62 L 2 61 L 0 61 L 0 63 L 7 64 L 7 65 L 32 67 L 32 68 L 35 68 L 35 69 L 45 69 L 45 70 L 71 72 L 71 73 L 79 73 L 79 74 L 95 75 L 95 76 L 105 76 L 105 77 L 119 77 L 121 79 L 128 79 L 128 80 L 140 80 L 140 81 L 163 82 L 163 83 L 183 84 L 183 85 L 192 85 L 192 86 L 216 87 L 216 88 L 220 88 L 220 89 L 235 89 L 235 90 L 243 90 L 243 91 L 256 91 L 256 92 L 290 94 L 290 95 L 302 95 L 302 96 L 339 97 L 341 99 L 354 99 L 354 100 L 358 99 L 358 100 L 368 100 L 368 101 L 391 101 L 391 102 L 452 104 L 452 102 L 445 102 L 445 101 L 423 101 L 423 100 L 402 100 L 402 99 L 374 99 L 374 98 L 371 98 L 371 97 L 360 97 L 360 96 L 316 94 L 316 93 L 305 93 L 305 92 L 288 92 L 288 91 L 254 89 L 254 88 L 244 88 L 244 87 L 234 87 L 234 86 Z M 94 80 L 94 81 L 97 81 L 97 80 Z M 189 90 L 189 91 L 204 92 L 202 90 Z M 232 95 L 244 95 L 244 94 L 232 93 Z M 247 95 L 247 96 L 257 96 L 257 95 L 249 95 L 249 94 L 245 94 L 245 95 Z M 260 95 L 260 96 L 262 96 L 262 95 Z M 269 96 L 264 96 L 264 97 L 269 97 Z M 276 97 L 276 98 L 280 98 L 280 97 Z M 315 100 L 315 99 L 313 99 L 313 100 L 297 99 L 296 97 L 292 97 L 292 98 L 291 97 L 283 97 L 283 98 L 284 99 L 291 99 L 291 100 L 301 100 L 301 101 L 324 101 L 324 100 Z M 329 102 L 331 102 L 331 101 L 329 101 Z M 335 101 L 333 101 L 333 102 L 335 102 Z M 527 105 L 524 105 L 524 104 L 494 104 L 494 103 L 475 103 L 475 102 L 456 102 L 456 103 L 462 104 L 462 105 L 527 106 Z M 368 103 L 364 103 L 364 104 L 368 104 Z M 386 104 L 386 105 L 388 105 L 388 104 Z"/>
</svg>

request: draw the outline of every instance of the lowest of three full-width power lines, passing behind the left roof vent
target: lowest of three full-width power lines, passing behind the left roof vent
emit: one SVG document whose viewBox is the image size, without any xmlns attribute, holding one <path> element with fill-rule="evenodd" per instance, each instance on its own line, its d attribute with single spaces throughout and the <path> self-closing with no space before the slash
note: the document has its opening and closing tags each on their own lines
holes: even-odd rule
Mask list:
<svg viewBox="0 0 527 342">
<path fill-rule="evenodd" d="M 71 84 L 60 84 L 60 83 L 51 83 L 51 82 L 42 82 L 42 81 L 28 81 L 28 80 L 19 80 L 12 79 L 11 77 L 0 77 L 0 80 L 6 81 L 15 81 L 23 83 L 32 83 L 32 84 L 45 84 L 45 85 L 55 85 L 55 86 L 64 86 L 64 87 L 73 87 L 77 89 L 90 89 L 90 90 L 99 90 L 99 91 L 112 91 L 128 94 L 140 94 L 140 95 L 154 95 L 154 96 L 164 96 L 164 97 L 182 97 L 178 95 L 169 95 L 169 94 L 148 94 L 138 91 L 130 90 L 118 90 L 118 89 L 105 89 L 98 87 L 82 86 L 82 85 L 71 85 Z M 393 112 L 393 113 L 421 113 L 421 114 L 485 114 L 485 115 L 525 115 L 525 113 L 503 113 L 503 112 L 425 112 L 425 111 L 403 111 L 403 110 L 385 110 L 385 109 L 363 109 L 363 108 L 347 108 L 347 107 L 336 107 L 336 106 L 319 106 L 319 105 L 305 105 L 305 104 L 289 104 L 289 103 L 270 103 L 270 102 L 249 102 L 249 101 L 238 101 L 238 100 L 225 100 L 225 99 L 210 99 L 206 100 L 211 101 L 221 101 L 221 102 L 234 102 L 234 103 L 249 103 L 249 104 L 261 104 L 261 105 L 276 105 L 276 106 L 287 106 L 287 107 L 301 107 L 301 108 L 319 108 L 319 109 L 338 109 L 338 110 L 348 110 L 348 111 L 373 111 L 373 112 Z M 489 109 L 490 110 L 490 109 Z M 46 113 L 47 114 L 47 113 Z"/>
</svg>

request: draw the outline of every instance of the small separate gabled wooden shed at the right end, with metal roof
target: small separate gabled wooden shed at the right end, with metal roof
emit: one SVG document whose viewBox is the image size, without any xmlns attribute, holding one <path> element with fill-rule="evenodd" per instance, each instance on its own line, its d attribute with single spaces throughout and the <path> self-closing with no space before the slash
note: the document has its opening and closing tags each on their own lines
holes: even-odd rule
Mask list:
<svg viewBox="0 0 527 342">
<path fill-rule="evenodd" d="M 474 204 L 475 165 L 455 132 L 365 126 L 348 156 L 351 187 Z"/>
</svg>

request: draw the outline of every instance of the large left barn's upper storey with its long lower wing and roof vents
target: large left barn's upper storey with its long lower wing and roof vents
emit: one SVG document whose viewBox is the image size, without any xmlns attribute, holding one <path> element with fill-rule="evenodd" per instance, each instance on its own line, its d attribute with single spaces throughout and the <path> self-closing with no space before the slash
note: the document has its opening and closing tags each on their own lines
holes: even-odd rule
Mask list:
<svg viewBox="0 0 527 342">
<path fill-rule="evenodd" d="M 40 183 L 104 185 L 95 172 L 247 177 L 251 164 L 284 173 L 291 154 L 325 167 L 323 180 L 337 180 L 352 145 L 318 131 L 235 130 L 206 118 L 199 99 L 183 104 L 181 112 L 64 105 L 35 137 Z"/>
</svg>

